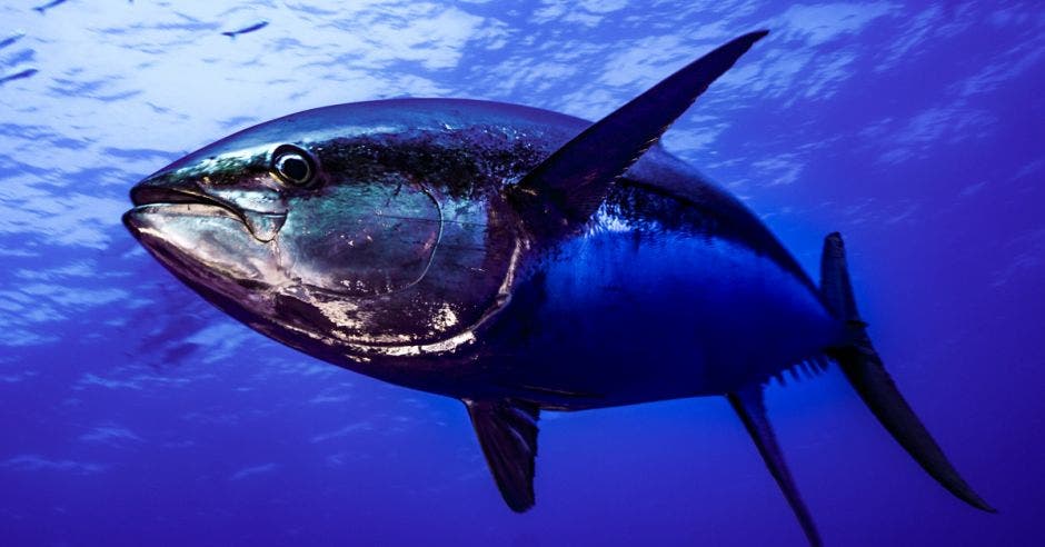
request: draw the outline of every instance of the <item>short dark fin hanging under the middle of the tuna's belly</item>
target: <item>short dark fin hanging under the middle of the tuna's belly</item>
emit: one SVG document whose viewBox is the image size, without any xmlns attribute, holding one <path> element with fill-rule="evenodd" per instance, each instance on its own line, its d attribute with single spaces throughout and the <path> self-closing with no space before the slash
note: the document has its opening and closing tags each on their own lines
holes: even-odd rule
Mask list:
<svg viewBox="0 0 1045 547">
<path fill-rule="evenodd" d="M 537 406 L 512 399 L 465 399 L 494 480 L 508 507 L 522 513 L 534 506 L 534 459 L 537 456 Z"/>
</svg>

